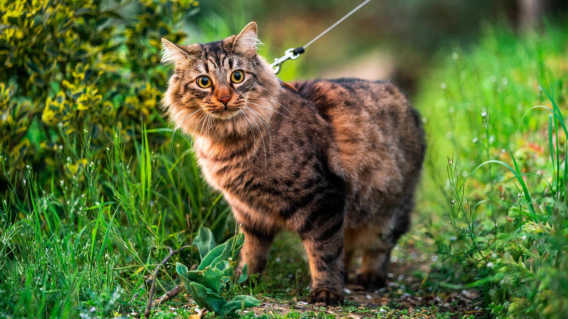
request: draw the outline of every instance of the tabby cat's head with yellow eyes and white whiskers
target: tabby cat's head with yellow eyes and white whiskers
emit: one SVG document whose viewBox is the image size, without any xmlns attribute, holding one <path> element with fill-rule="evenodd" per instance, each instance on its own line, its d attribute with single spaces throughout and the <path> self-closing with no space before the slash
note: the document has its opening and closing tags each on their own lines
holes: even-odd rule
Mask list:
<svg viewBox="0 0 568 319">
<path fill-rule="evenodd" d="M 162 39 L 162 63 L 174 66 L 164 95 L 168 115 L 187 134 L 243 135 L 272 115 L 279 80 L 256 49 L 257 26 L 206 43 Z"/>
</svg>

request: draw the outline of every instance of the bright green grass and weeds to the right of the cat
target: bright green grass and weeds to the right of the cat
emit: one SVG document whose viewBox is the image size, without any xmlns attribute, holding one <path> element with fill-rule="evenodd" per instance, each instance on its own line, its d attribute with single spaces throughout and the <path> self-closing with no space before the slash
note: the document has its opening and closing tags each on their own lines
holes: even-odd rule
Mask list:
<svg viewBox="0 0 568 319">
<path fill-rule="evenodd" d="M 454 230 L 431 229 L 438 265 L 460 266 L 448 276 L 482 291 L 498 317 L 568 311 L 565 32 L 488 30 L 472 53 L 456 50 L 419 99 L 429 106 L 426 183 L 431 198 L 446 198 L 432 207 Z"/>
</svg>

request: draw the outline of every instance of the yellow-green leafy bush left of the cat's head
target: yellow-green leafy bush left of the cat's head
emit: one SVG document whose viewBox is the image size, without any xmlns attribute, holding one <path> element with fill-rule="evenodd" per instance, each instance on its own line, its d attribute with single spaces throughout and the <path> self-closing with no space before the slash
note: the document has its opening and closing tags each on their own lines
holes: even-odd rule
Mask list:
<svg viewBox="0 0 568 319">
<path fill-rule="evenodd" d="M 134 12 L 128 3 L 0 4 L 0 146 L 11 181 L 26 165 L 70 177 L 85 167 L 82 142 L 100 159 L 113 130 L 126 142 L 164 125 L 154 111 L 168 78 L 159 40 L 182 40 L 178 24 L 198 2 L 144 1 Z"/>
</svg>

